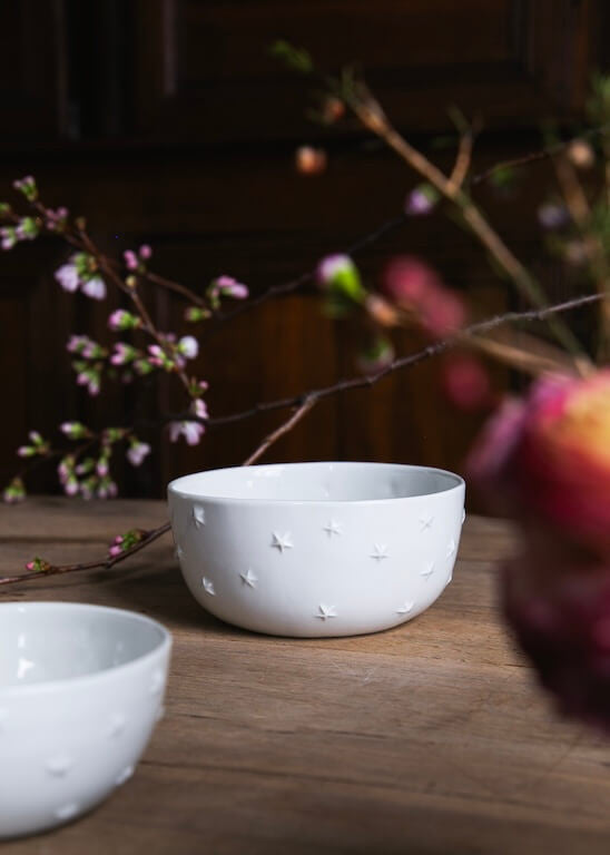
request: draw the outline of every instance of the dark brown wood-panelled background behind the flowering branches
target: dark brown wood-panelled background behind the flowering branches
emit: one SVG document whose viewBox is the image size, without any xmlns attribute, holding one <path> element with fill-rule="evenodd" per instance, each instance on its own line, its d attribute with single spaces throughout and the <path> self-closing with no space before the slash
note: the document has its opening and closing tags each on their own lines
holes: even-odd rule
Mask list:
<svg viewBox="0 0 610 855">
<path fill-rule="evenodd" d="M 455 142 L 447 108 L 479 115 L 476 173 L 540 148 L 551 118 L 578 129 L 591 72 L 608 61 L 609 21 L 603 0 L 3 0 L 0 198 L 13 178 L 32 174 L 43 200 L 85 215 L 104 248 L 148 243 L 161 274 L 203 291 L 226 273 L 256 295 L 400 217 L 415 184 L 354 121 L 323 128 L 307 119 L 307 83 L 270 58 L 275 39 L 307 48 L 323 68 L 356 61 L 397 127 L 445 168 Z M 326 148 L 321 175 L 295 169 L 303 144 Z M 510 188 L 486 184 L 476 198 L 560 298 L 577 285 L 548 261 L 535 216 L 550 175 L 535 164 Z M 405 220 L 361 253 L 370 282 L 396 253 L 426 259 L 480 312 L 518 307 L 446 217 Z M 180 409 L 167 379 L 137 395 L 108 382 L 96 400 L 77 389 L 68 335 L 111 341 L 106 322 L 120 303 L 61 292 L 52 274 L 66 257 L 50 239 L 0 256 L 3 481 L 28 430 L 47 436 L 67 419 L 102 426 Z M 161 330 L 188 328 L 184 304 L 145 297 Z M 357 371 L 352 331 L 322 317 L 313 291 L 210 323 L 206 336 L 196 371 L 210 384 L 213 415 Z M 396 340 L 399 353 L 420 344 L 413 333 Z M 427 362 L 325 401 L 266 460 L 460 471 L 483 414 L 454 410 L 439 371 Z M 499 394 L 511 382 L 494 370 Z M 282 415 L 210 430 L 193 450 L 167 436 L 160 443 L 156 429 L 140 432 L 154 454 L 118 481 L 127 495 L 160 495 L 179 473 L 238 463 Z M 31 487 L 58 489 L 52 471 Z"/>
</svg>

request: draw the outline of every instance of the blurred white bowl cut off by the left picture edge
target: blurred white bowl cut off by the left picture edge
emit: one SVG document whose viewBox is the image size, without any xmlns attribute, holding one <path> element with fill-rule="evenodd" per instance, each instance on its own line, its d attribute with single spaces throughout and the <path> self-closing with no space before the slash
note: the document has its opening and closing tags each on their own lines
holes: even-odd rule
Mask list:
<svg viewBox="0 0 610 855">
<path fill-rule="evenodd" d="M 131 611 L 0 605 L 0 839 L 68 822 L 131 776 L 170 648 L 164 627 Z"/>
</svg>

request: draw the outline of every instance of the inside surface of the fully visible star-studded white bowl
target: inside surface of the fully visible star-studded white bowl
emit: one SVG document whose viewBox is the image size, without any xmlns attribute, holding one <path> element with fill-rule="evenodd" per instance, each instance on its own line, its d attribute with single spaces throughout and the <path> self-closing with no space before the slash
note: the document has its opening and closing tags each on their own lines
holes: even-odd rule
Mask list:
<svg viewBox="0 0 610 855">
<path fill-rule="evenodd" d="M 178 478 L 169 490 L 194 498 L 281 502 L 363 502 L 430 495 L 462 483 L 440 469 L 394 463 L 236 466 Z"/>
</svg>

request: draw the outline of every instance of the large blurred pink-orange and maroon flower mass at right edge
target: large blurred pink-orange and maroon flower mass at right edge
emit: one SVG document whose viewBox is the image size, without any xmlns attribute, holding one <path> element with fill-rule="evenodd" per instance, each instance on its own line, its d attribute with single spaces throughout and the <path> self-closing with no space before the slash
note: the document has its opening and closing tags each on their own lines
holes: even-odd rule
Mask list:
<svg viewBox="0 0 610 855">
<path fill-rule="evenodd" d="M 610 370 L 506 401 L 469 471 L 521 529 L 502 572 L 520 643 L 562 711 L 610 730 Z"/>
</svg>

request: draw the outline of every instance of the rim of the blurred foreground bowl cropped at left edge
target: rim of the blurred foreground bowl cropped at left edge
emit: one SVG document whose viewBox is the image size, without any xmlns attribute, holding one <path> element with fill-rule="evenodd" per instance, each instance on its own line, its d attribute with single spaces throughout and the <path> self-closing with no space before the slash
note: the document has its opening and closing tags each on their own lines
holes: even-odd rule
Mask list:
<svg viewBox="0 0 610 855">
<path fill-rule="evenodd" d="M 3 611 L 12 610 L 19 612 L 26 609 L 28 611 L 41 612 L 61 610 L 70 611 L 73 613 L 96 612 L 98 615 L 120 615 L 121 617 L 129 618 L 134 622 L 146 623 L 149 627 L 155 628 L 160 633 L 160 639 L 151 650 L 148 650 L 141 656 L 137 656 L 135 659 L 130 659 L 128 662 L 122 662 L 121 665 L 115 665 L 97 671 L 77 675 L 76 677 L 62 677 L 57 680 L 40 680 L 38 682 L 24 682 L 22 685 L 0 684 L 0 701 L 18 696 L 21 697 L 36 695 L 40 691 L 51 692 L 77 687 L 80 688 L 83 686 L 86 687 L 92 682 L 109 680 L 112 679 L 117 674 L 128 672 L 130 670 L 135 670 L 136 668 L 146 666 L 147 662 L 154 662 L 160 656 L 165 656 L 166 652 L 169 652 L 173 647 L 174 639 L 171 632 L 166 627 L 164 627 L 163 623 L 159 623 L 159 621 L 149 618 L 147 615 L 140 615 L 137 611 L 131 611 L 130 609 L 119 609 L 112 606 L 98 606 L 92 602 L 63 602 L 62 600 L 31 600 L 23 602 L 21 600 L 10 600 L 8 602 L 0 602 L 0 621 L 2 620 Z"/>
</svg>

